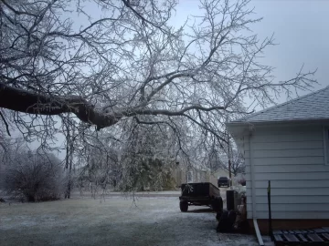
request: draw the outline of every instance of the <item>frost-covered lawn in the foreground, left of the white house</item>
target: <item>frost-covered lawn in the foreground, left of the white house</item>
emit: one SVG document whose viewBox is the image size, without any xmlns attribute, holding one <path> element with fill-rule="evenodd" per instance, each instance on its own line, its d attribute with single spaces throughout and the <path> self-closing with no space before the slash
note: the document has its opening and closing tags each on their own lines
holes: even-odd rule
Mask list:
<svg viewBox="0 0 329 246">
<path fill-rule="evenodd" d="M 258 245 L 255 236 L 215 231 L 215 213 L 175 197 L 76 197 L 0 203 L 0 245 Z"/>
</svg>

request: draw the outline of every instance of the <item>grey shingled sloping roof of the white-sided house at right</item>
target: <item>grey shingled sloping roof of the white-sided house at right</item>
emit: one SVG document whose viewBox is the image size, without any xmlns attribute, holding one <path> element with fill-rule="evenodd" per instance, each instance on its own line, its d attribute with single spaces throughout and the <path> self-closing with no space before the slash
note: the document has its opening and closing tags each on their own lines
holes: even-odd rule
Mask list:
<svg viewBox="0 0 329 246">
<path fill-rule="evenodd" d="M 280 122 L 329 119 L 329 87 L 267 108 L 230 123 Z"/>
</svg>

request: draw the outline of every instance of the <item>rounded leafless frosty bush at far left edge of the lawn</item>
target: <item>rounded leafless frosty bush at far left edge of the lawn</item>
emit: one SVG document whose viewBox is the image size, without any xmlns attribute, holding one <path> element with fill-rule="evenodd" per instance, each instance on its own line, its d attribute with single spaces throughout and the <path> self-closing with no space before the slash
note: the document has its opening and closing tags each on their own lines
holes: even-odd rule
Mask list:
<svg viewBox="0 0 329 246">
<path fill-rule="evenodd" d="M 62 165 L 51 154 L 19 154 L 5 170 L 5 191 L 21 200 L 58 200 L 65 184 Z"/>
</svg>

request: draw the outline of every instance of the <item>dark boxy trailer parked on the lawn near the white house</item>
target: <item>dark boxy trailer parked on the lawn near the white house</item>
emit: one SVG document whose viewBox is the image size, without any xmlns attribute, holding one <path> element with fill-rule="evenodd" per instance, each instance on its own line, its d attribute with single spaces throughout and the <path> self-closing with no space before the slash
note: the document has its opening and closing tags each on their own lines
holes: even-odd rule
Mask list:
<svg viewBox="0 0 329 246">
<path fill-rule="evenodd" d="M 223 200 L 219 189 L 212 183 L 188 183 L 181 185 L 182 195 L 179 197 L 179 208 L 186 212 L 188 206 L 209 206 L 215 211 L 223 210 Z"/>
</svg>

